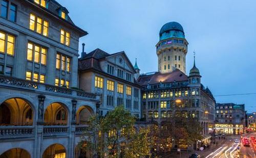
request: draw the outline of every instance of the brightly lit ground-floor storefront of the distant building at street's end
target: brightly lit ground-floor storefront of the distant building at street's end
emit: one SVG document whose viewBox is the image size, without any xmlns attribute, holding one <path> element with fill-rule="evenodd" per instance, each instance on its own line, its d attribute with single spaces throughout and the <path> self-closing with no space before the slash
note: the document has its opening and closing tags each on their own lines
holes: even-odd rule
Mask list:
<svg viewBox="0 0 256 158">
<path fill-rule="evenodd" d="M 215 124 L 216 132 L 224 134 L 243 134 L 243 127 L 243 124 Z"/>
</svg>

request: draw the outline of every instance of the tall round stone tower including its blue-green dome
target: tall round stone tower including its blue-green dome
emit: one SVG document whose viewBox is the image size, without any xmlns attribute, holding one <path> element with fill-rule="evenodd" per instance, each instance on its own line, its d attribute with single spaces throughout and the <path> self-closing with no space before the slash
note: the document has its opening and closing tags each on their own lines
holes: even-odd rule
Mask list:
<svg viewBox="0 0 256 158">
<path fill-rule="evenodd" d="M 186 73 L 187 45 L 182 26 L 178 22 L 165 23 L 156 44 L 158 71 L 166 73 L 179 69 Z"/>
</svg>

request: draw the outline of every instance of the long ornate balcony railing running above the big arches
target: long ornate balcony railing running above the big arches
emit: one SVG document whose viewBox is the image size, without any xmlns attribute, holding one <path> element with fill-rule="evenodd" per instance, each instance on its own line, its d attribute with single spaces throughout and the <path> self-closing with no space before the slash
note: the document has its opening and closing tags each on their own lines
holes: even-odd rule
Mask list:
<svg viewBox="0 0 256 158">
<path fill-rule="evenodd" d="M 94 93 L 88 93 L 88 92 L 83 92 L 83 91 L 75 90 L 71 88 L 58 87 L 53 85 L 31 82 L 31 81 L 23 80 L 20 78 L 5 76 L 2 74 L 0 74 L 0 85 L 29 89 L 29 90 L 46 91 L 46 92 L 51 92 L 53 94 L 61 94 L 66 96 L 68 95 L 70 97 L 75 96 L 79 98 L 89 98 L 89 99 L 99 100 L 99 95 L 96 95 Z"/>
</svg>

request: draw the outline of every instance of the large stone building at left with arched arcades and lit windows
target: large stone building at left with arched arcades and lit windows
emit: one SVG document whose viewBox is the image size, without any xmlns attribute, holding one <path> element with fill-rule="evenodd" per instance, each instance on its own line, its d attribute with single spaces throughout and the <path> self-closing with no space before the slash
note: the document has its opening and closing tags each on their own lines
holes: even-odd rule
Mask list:
<svg viewBox="0 0 256 158">
<path fill-rule="evenodd" d="M 73 88 L 87 32 L 54 0 L 0 4 L 0 157 L 78 157 L 83 123 L 99 106 Z"/>
</svg>

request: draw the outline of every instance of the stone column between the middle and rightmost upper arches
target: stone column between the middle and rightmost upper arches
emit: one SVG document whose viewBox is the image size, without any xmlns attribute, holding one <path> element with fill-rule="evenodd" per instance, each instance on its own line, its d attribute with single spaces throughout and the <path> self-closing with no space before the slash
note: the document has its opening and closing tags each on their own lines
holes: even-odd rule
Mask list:
<svg viewBox="0 0 256 158">
<path fill-rule="evenodd" d="M 71 114 L 71 127 L 69 131 L 70 135 L 70 143 L 69 143 L 69 153 L 68 157 L 74 157 L 74 151 L 75 151 L 75 137 L 76 137 L 76 99 L 71 100 L 72 103 L 72 114 Z"/>
</svg>

